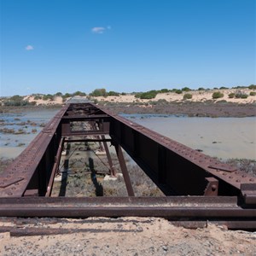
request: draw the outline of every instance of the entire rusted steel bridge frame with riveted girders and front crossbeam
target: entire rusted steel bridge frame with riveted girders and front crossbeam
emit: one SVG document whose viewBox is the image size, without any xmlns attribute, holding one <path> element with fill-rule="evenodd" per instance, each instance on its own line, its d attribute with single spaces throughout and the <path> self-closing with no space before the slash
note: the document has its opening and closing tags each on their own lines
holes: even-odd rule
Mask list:
<svg viewBox="0 0 256 256">
<path fill-rule="evenodd" d="M 74 129 L 80 127 L 79 124 L 84 126 Z M 83 205 L 79 204 L 80 199 L 50 198 L 65 142 L 103 143 L 110 172 L 115 175 L 107 142 L 111 143 L 116 149 L 130 197 L 84 198 Z M 166 197 L 134 197 L 122 148 Z M 32 198 L 27 199 L 27 196 Z M 198 218 L 211 218 L 212 221 L 229 221 L 232 227 L 250 223 L 256 229 L 256 178 L 92 103 L 70 103 L 61 108 L 0 175 L 0 216 L 117 217 L 134 214 L 196 218 L 195 223 L 200 221 Z M 239 219 L 240 224 L 236 222 Z"/>
</svg>

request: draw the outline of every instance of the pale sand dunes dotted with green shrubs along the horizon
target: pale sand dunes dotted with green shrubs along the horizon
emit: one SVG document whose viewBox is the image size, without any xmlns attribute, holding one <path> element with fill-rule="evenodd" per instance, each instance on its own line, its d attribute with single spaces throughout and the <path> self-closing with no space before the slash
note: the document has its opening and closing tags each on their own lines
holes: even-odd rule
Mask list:
<svg viewBox="0 0 256 256">
<path fill-rule="evenodd" d="M 226 102 L 236 102 L 236 103 L 253 103 L 256 102 L 256 96 L 249 96 L 250 91 L 249 89 L 225 89 L 225 90 L 191 90 L 189 92 L 183 92 L 182 94 L 177 94 L 174 92 L 168 92 L 168 93 L 159 93 L 153 100 L 166 100 L 167 102 L 182 102 L 183 101 L 183 95 L 185 93 L 192 94 L 192 99 L 188 100 L 190 102 L 206 102 L 209 100 L 212 100 L 212 93 L 215 91 L 221 91 L 224 94 L 224 97 L 219 98 L 216 100 L 218 101 L 226 101 Z M 237 91 L 240 91 L 241 93 L 247 94 L 248 97 L 246 99 L 236 99 L 236 98 L 230 98 L 230 93 L 236 93 Z M 87 98 L 84 96 L 84 98 Z M 24 98 L 28 102 L 36 102 L 36 105 L 55 105 L 55 104 L 62 104 L 63 99 L 61 96 L 56 96 L 54 101 L 44 101 L 44 100 L 35 100 L 34 96 L 26 96 Z M 108 96 L 108 97 L 91 97 L 90 99 L 96 99 L 99 102 L 149 102 L 152 100 L 141 100 L 137 99 L 134 95 L 127 94 L 125 96 Z M 67 98 L 68 100 L 68 98 Z"/>
</svg>

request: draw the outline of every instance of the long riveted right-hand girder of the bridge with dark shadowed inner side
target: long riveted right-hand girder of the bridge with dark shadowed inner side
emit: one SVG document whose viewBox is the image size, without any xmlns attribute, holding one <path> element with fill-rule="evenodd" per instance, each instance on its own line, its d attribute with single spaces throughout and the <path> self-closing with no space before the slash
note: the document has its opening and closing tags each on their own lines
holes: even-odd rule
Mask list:
<svg viewBox="0 0 256 256">
<path fill-rule="evenodd" d="M 204 195 L 206 178 L 218 179 L 218 195 L 240 195 L 242 183 L 256 178 L 219 160 L 177 143 L 142 125 L 106 111 L 111 119 L 110 136 L 143 168 L 163 192 Z M 196 184 L 196 185 L 195 185 Z"/>
</svg>

